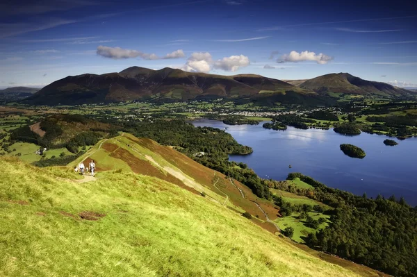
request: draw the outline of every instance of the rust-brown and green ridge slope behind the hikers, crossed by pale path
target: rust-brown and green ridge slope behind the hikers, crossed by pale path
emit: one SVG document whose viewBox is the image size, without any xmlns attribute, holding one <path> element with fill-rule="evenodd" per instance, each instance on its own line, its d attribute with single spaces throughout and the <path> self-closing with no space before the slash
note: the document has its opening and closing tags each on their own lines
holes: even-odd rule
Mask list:
<svg viewBox="0 0 417 277">
<path fill-rule="evenodd" d="M 269 224 L 264 222 L 265 215 L 253 201 L 261 205 L 268 217 L 277 218 L 277 206 L 265 199 L 259 199 L 245 185 L 234 180 L 234 184 L 243 190 L 245 194 L 243 198 L 239 190 L 220 172 L 204 167 L 178 151 L 149 139 L 137 138 L 125 133 L 109 140 L 102 140 L 70 166 L 78 165 L 81 160 L 86 160 L 88 164 L 90 159 L 95 160 L 98 171 L 110 169 L 133 171 L 156 176 L 197 194 L 204 192 L 211 199 L 224 203 L 238 212 L 250 212 L 261 219 L 260 224 L 263 227 L 271 231 Z"/>
</svg>

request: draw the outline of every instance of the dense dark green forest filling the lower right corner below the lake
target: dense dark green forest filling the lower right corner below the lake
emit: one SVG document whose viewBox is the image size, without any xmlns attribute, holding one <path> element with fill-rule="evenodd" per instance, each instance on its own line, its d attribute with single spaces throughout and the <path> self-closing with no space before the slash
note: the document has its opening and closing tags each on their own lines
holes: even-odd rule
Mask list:
<svg viewBox="0 0 417 277">
<path fill-rule="evenodd" d="M 327 211 L 332 215 L 331 224 L 306 238 L 311 248 L 395 276 L 417 276 L 417 207 L 412 208 L 402 197 L 369 199 L 366 194 L 333 189 L 300 173 L 288 174 L 289 180 L 297 177 L 314 189 L 295 193 L 335 208 Z"/>
</svg>

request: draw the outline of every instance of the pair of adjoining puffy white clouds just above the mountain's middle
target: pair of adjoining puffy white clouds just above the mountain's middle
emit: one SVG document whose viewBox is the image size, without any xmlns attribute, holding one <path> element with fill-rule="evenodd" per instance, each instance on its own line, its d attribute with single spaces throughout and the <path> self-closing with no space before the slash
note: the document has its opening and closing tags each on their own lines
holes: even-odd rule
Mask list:
<svg viewBox="0 0 417 277">
<path fill-rule="evenodd" d="M 221 69 L 228 72 L 236 72 L 240 67 L 250 65 L 247 56 L 230 56 L 220 60 L 213 60 L 211 53 L 195 52 L 188 58 L 181 69 L 188 72 L 210 72 L 211 69 Z"/>
</svg>

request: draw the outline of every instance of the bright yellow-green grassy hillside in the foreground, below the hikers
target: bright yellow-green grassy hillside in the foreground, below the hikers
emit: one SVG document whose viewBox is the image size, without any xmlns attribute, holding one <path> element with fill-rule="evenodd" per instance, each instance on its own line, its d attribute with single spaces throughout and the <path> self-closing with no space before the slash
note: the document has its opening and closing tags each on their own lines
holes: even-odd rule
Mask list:
<svg viewBox="0 0 417 277">
<path fill-rule="evenodd" d="M 354 276 L 158 178 L 1 164 L 1 276 Z"/>
</svg>

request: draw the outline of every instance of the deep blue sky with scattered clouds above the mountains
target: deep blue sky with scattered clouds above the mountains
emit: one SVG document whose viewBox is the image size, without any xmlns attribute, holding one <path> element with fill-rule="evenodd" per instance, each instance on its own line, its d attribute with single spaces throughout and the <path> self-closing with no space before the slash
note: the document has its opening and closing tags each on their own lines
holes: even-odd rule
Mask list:
<svg viewBox="0 0 417 277">
<path fill-rule="evenodd" d="M 0 87 L 133 65 L 417 87 L 417 4 L 386 2 L 1 1 Z"/>
</svg>

